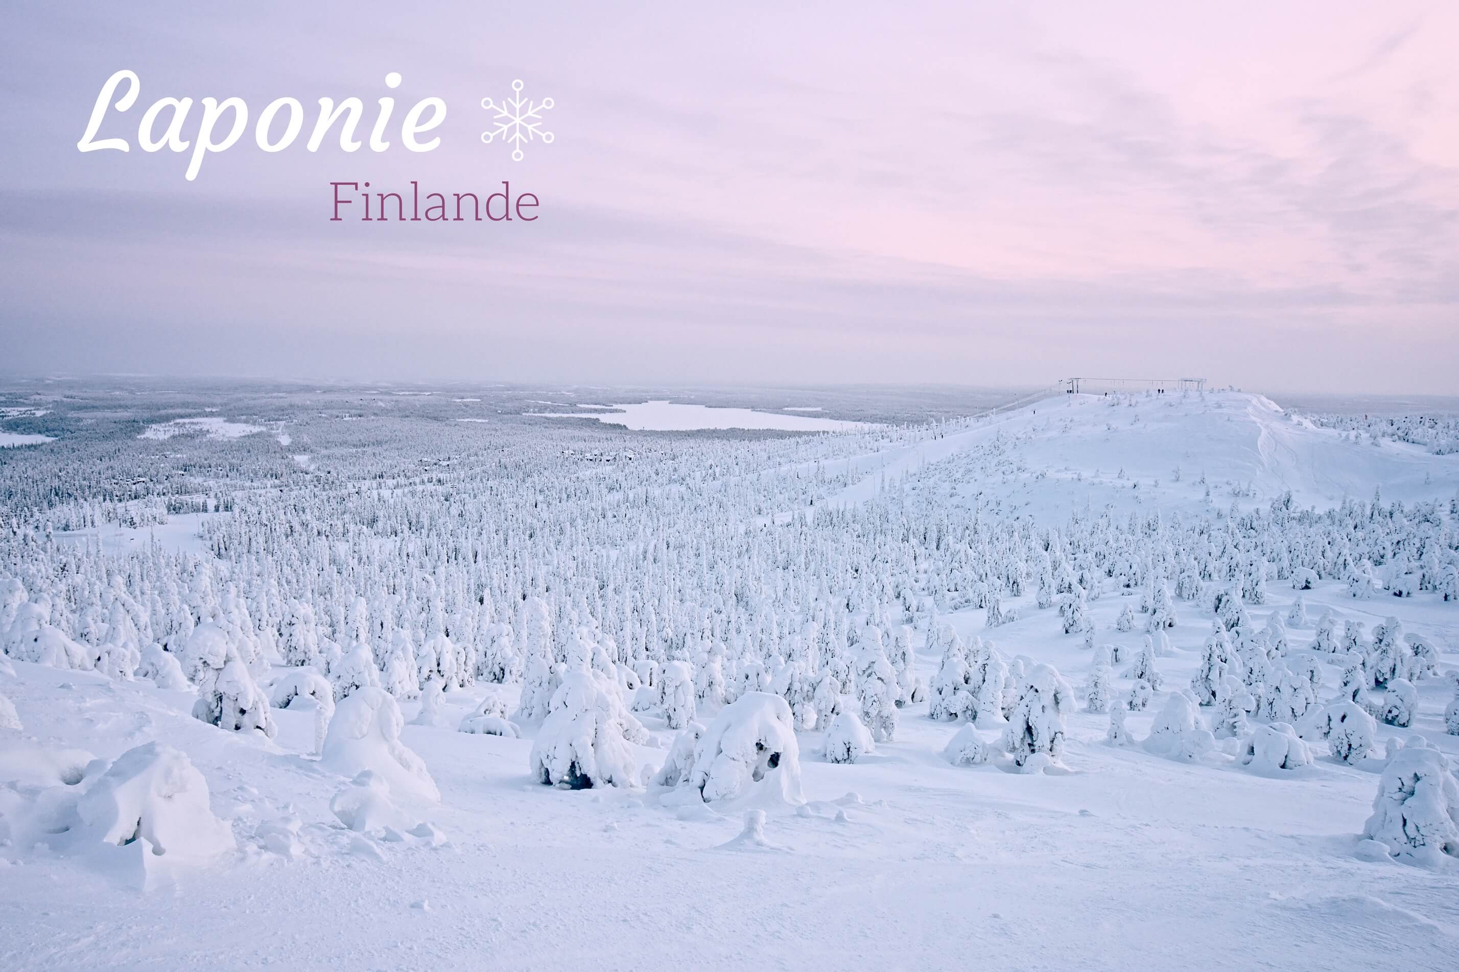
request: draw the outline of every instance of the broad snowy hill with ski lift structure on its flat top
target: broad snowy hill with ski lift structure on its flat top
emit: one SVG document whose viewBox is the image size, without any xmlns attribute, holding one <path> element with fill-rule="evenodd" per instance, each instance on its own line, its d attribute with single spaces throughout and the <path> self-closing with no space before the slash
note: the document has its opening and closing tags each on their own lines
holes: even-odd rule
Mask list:
<svg viewBox="0 0 1459 972">
<path fill-rule="evenodd" d="M 837 499 L 874 495 L 881 473 L 900 476 L 991 450 L 999 463 L 979 486 L 1055 515 L 1067 514 L 1072 502 L 1196 509 L 1208 485 L 1218 505 L 1230 505 L 1233 489 L 1242 492 L 1243 506 L 1290 490 L 1299 506 L 1322 509 L 1370 499 L 1376 489 L 1389 501 L 1447 499 L 1459 483 L 1459 455 L 1434 455 L 1392 439 L 1358 444 L 1288 416 L 1265 396 L 1081 394 L 1046 398 L 889 454 L 877 476 Z"/>
</svg>

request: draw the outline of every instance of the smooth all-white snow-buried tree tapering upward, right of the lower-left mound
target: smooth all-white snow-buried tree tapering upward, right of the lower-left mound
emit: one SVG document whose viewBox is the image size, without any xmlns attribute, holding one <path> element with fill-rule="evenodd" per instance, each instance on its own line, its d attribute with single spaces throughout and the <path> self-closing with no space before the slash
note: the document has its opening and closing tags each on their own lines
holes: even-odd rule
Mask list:
<svg viewBox="0 0 1459 972">
<path fill-rule="evenodd" d="M 406 720 L 395 699 L 384 689 L 356 689 L 340 701 L 324 737 L 320 763 L 344 776 L 369 769 L 392 792 L 436 803 L 441 791 L 426 763 L 400 741 Z"/>
</svg>

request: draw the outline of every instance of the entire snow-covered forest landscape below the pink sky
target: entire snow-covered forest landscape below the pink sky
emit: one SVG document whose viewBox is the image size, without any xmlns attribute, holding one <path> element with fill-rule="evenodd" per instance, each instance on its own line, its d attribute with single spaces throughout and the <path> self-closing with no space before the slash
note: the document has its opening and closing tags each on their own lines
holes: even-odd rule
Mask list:
<svg viewBox="0 0 1459 972">
<path fill-rule="evenodd" d="M 0 391 L 0 968 L 1453 968 L 1455 412 L 401 391 Z"/>
</svg>

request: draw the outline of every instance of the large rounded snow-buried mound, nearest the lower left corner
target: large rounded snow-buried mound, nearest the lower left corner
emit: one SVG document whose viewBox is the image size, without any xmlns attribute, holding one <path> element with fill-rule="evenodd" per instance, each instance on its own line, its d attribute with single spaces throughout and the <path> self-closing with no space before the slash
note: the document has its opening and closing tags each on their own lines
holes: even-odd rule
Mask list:
<svg viewBox="0 0 1459 972">
<path fill-rule="evenodd" d="M 207 781 L 165 743 L 128 749 L 82 795 L 76 813 L 102 844 L 175 861 L 206 863 L 233 849 L 233 832 L 213 816 Z"/>
</svg>

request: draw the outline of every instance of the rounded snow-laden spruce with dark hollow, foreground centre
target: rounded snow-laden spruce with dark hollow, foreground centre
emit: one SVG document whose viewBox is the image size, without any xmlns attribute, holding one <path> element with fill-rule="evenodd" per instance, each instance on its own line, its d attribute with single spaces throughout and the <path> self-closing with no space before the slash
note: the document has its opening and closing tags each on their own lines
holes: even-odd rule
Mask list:
<svg viewBox="0 0 1459 972">
<path fill-rule="evenodd" d="M 779 801 L 805 803 L 791 706 L 767 692 L 747 692 L 719 711 L 694 749 L 684 785 L 705 803 L 718 803 L 744 797 L 757 784 Z"/>
</svg>

